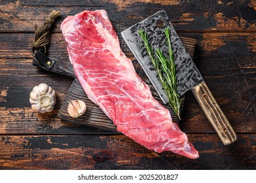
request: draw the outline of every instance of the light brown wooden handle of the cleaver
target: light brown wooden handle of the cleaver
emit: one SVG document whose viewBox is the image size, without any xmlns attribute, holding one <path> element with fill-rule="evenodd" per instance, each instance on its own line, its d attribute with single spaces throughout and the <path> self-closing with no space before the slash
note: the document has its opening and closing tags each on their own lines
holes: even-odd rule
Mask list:
<svg viewBox="0 0 256 183">
<path fill-rule="evenodd" d="M 192 92 L 223 144 L 228 145 L 236 141 L 236 133 L 234 133 L 229 121 L 215 101 L 206 83 L 201 82 L 194 86 Z"/>
</svg>

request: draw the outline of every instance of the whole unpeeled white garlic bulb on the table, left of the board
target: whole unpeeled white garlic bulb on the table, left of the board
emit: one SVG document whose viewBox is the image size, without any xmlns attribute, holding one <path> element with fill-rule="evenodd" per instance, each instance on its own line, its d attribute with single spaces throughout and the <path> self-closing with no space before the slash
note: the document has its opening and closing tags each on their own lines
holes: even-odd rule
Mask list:
<svg viewBox="0 0 256 183">
<path fill-rule="evenodd" d="M 51 112 L 56 105 L 56 92 L 45 83 L 41 83 L 33 88 L 30 93 L 29 102 L 35 112 Z"/>
</svg>

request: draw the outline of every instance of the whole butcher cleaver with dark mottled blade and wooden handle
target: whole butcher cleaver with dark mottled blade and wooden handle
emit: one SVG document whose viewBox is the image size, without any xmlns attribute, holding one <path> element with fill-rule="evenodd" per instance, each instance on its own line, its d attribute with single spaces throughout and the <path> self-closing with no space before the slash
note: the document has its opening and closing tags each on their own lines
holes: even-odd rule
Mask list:
<svg viewBox="0 0 256 183">
<path fill-rule="evenodd" d="M 227 145 L 236 141 L 236 133 L 234 133 L 229 121 L 215 101 L 200 72 L 196 68 L 196 65 L 194 65 L 191 56 L 189 56 L 189 53 L 185 50 L 185 46 L 183 46 L 181 39 L 179 39 L 174 27 L 170 23 L 166 12 L 163 10 L 156 12 L 153 16 L 122 31 L 121 34 L 141 67 L 143 67 L 149 80 L 153 86 L 155 86 L 156 92 L 158 92 L 162 101 L 168 103 L 168 97 L 162 89 L 157 73 L 139 35 L 140 29 L 146 31 L 149 42 L 151 42 L 153 48 L 161 48 L 164 54 L 167 55 L 168 48 L 165 44 L 166 37 L 164 35 L 164 28 L 168 26 L 170 27 L 172 48 L 174 50 L 177 93 L 181 96 L 188 90 L 192 90 L 192 93 L 204 110 L 204 113 L 208 120 L 210 120 L 211 125 L 213 125 L 223 144 Z"/>
</svg>

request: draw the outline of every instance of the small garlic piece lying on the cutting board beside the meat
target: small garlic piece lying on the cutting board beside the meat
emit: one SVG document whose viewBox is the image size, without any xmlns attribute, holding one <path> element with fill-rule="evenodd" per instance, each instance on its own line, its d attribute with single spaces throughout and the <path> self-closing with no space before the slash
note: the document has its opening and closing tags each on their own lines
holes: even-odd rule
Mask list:
<svg viewBox="0 0 256 183">
<path fill-rule="evenodd" d="M 79 116 L 84 114 L 85 111 L 86 111 L 86 104 L 84 103 L 84 101 L 80 101 L 80 100 L 70 101 L 67 107 L 67 112 L 73 118 L 78 118 Z"/>
</svg>

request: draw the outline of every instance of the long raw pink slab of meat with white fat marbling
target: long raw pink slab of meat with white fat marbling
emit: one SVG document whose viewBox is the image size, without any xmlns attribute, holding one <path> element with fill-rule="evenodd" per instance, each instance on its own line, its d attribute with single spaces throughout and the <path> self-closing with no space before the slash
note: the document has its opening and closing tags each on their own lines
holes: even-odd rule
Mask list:
<svg viewBox="0 0 256 183">
<path fill-rule="evenodd" d="M 188 158 L 198 152 L 153 98 L 122 52 L 105 10 L 85 10 L 62 22 L 69 60 L 88 98 L 117 125 L 117 130 L 155 152 Z"/>
</svg>

